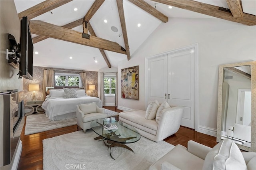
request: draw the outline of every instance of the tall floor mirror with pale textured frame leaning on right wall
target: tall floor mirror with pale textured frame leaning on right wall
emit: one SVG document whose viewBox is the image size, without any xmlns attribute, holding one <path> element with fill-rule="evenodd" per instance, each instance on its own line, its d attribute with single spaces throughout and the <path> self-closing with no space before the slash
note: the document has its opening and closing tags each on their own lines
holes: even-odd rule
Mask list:
<svg viewBox="0 0 256 170">
<path fill-rule="evenodd" d="M 256 152 L 256 61 L 220 65 L 217 142 Z"/>
</svg>

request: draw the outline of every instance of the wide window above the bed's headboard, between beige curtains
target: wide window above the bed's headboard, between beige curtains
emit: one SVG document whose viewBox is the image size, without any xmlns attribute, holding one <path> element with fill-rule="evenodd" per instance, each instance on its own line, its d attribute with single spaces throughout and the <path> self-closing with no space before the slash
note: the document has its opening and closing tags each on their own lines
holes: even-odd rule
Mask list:
<svg viewBox="0 0 256 170">
<path fill-rule="evenodd" d="M 69 73 L 55 73 L 55 85 L 56 86 L 79 86 L 81 80 L 78 74 Z"/>
</svg>

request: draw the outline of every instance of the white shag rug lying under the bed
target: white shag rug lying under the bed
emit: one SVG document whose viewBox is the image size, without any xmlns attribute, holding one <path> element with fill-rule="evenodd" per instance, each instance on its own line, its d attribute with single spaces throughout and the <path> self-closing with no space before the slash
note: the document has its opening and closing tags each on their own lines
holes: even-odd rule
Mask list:
<svg viewBox="0 0 256 170">
<path fill-rule="evenodd" d="M 110 111 L 108 109 L 105 109 L 105 113 L 108 114 L 108 117 L 118 115 L 118 112 Z M 48 118 L 44 114 L 29 115 L 26 118 L 25 135 L 72 125 L 76 125 L 76 118 L 61 121 L 48 121 Z"/>
</svg>

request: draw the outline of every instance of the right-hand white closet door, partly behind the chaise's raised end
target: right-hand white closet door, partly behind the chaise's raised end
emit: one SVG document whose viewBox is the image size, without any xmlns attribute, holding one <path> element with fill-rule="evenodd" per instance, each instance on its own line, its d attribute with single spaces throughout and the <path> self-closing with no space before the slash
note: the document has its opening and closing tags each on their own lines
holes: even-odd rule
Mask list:
<svg viewBox="0 0 256 170">
<path fill-rule="evenodd" d="M 194 50 L 168 54 L 168 103 L 184 107 L 182 126 L 194 126 L 195 62 Z"/>
</svg>

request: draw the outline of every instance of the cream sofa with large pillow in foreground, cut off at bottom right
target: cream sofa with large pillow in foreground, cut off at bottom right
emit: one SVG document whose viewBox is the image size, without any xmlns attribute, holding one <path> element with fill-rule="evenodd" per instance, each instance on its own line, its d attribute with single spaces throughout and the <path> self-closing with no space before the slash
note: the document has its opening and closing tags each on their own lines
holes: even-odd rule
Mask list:
<svg viewBox="0 0 256 170">
<path fill-rule="evenodd" d="M 256 153 L 240 152 L 229 139 L 214 148 L 188 141 L 188 148 L 178 144 L 152 164 L 149 170 L 256 170 Z"/>
</svg>

